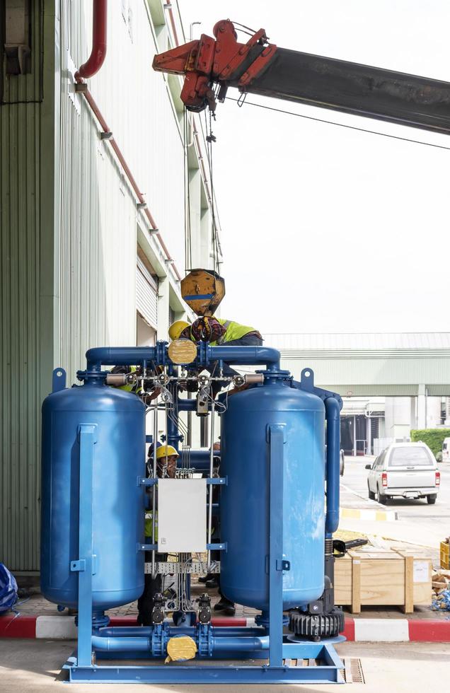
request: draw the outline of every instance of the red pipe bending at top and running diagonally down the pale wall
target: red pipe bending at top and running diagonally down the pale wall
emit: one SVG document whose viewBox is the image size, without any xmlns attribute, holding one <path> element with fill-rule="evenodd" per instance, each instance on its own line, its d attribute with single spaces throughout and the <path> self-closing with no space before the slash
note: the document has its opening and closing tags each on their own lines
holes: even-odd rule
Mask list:
<svg viewBox="0 0 450 693">
<path fill-rule="evenodd" d="M 96 72 L 98 72 L 100 67 L 103 65 L 103 61 L 105 60 L 105 55 L 106 55 L 106 46 L 107 46 L 107 41 L 106 41 L 107 16 L 108 16 L 108 0 L 93 0 L 93 3 L 92 3 L 92 50 L 91 50 L 91 55 L 88 57 L 87 61 L 85 63 L 83 63 L 81 65 L 80 69 L 77 70 L 75 73 L 75 81 L 77 83 L 83 83 L 84 78 L 87 79 L 87 78 L 95 75 Z M 96 104 L 96 101 L 94 100 L 93 95 L 86 88 L 86 85 L 84 86 L 83 91 L 81 91 L 81 93 L 83 94 L 84 98 L 86 99 L 89 106 L 91 107 L 91 110 L 92 110 L 93 114 L 96 116 L 98 122 L 100 123 L 100 126 L 103 129 L 103 132 L 110 132 L 110 128 L 108 127 L 108 124 L 105 121 L 105 118 L 103 117 L 102 113 L 100 112 L 100 109 L 99 109 L 98 105 Z M 107 141 L 109 141 L 110 145 L 113 147 L 113 150 L 115 151 L 115 155 L 117 156 L 118 160 L 120 161 L 120 164 L 122 165 L 124 173 L 127 176 L 129 183 L 132 186 L 132 189 L 136 193 L 137 199 L 142 204 L 146 204 L 144 197 L 142 195 L 142 192 L 139 190 L 137 182 L 134 180 L 134 176 L 132 175 L 131 170 L 129 170 L 129 166 L 128 166 L 127 162 L 125 161 L 125 158 L 124 158 L 122 152 L 120 151 L 119 145 L 115 141 L 114 137 L 112 137 L 111 139 L 109 139 Z M 144 214 L 145 214 L 146 218 L 149 220 L 151 228 L 158 228 L 156 226 L 156 221 L 154 220 L 153 216 L 151 216 L 151 212 L 149 211 L 149 209 L 145 208 Z M 167 260 L 172 263 L 173 272 L 175 272 L 177 279 L 179 281 L 181 281 L 180 272 L 178 272 L 178 269 L 175 266 L 175 262 L 173 261 L 173 257 L 171 257 L 170 252 L 168 252 L 168 249 L 166 247 L 166 243 L 164 243 L 163 238 L 161 236 L 161 233 L 156 233 L 156 238 L 158 238 L 159 244 L 161 245 L 161 248 L 163 249 L 163 252 L 165 253 L 165 255 L 167 257 Z"/>
</svg>

